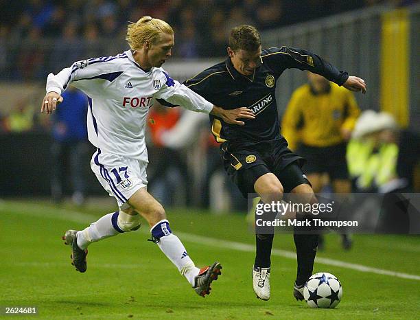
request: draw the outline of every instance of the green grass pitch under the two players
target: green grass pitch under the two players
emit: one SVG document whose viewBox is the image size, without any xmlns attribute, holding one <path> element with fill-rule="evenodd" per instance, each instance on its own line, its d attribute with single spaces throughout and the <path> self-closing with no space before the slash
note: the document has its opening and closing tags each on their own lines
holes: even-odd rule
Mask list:
<svg viewBox="0 0 420 320">
<path fill-rule="evenodd" d="M 419 319 L 420 237 L 354 236 L 345 252 L 328 235 L 319 258 L 376 268 L 375 272 L 316 262 L 342 282 L 336 309 L 310 309 L 292 297 L 296 261 L 292 235 L 275 238 L 270 301 L 256 299 L 250 278 L 254 236 L 240 214 L 167 209 L 172 230 L 197 266 L 219 260 L 222 276 L 205 299 L 194 293 L 148 238 L 148 227 L 92 244 L 88 270 L 70 264 L 66 229 L 81 229 L 113 207 L 59 208 L 46 201 L 0 202 L 0 306 L 36 306 L 25 319 Z M 206 238 L 200 238 L 206 237 Z M 238 243 L 239 242 L 239 243 Z M 379 269 L 415 279 L 379 274 Z M 19 316 L 0 316 L 5 319 Z"/>
</svg>

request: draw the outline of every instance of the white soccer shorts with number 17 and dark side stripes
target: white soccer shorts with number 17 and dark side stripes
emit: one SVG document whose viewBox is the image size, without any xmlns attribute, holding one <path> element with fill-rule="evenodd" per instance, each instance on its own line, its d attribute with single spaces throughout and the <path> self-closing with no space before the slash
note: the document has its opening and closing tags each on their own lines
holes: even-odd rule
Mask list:
<svg viewBox="0 0 420 320">
<path fill-rule="evenodd" d="M 145 161 L 104 153 L 100 149 L 91 159 L 92 171 L 108 194 L 117 199 L 120 208 L 137 190 L 148 185 L 147 167 Z"/>
</svg>

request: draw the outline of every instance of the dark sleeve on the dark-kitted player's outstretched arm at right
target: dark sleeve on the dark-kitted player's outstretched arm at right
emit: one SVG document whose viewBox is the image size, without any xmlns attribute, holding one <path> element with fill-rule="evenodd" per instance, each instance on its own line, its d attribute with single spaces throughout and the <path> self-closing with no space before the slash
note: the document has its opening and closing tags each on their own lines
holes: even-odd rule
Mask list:
<svg viewBox="0 0 420 320">
<path fill-rule="evenodd" d="M 320 74 L 339 86 L 344 84 L 349 78 L 346 71 L 338 71 L 334 65 L 304 49 L 281 47 L 268 49 L 262 58 L 267 58 L 275 69 L 283 71 L 284 69 L 301 69 Z"/>
</svg>

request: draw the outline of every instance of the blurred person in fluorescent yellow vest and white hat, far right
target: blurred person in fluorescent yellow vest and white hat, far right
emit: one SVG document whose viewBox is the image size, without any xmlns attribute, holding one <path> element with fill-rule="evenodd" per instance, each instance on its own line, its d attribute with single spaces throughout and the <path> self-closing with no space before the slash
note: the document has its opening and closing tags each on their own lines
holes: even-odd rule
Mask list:
<svg viewBox="0 0 420 320">
<path fill-rule="evenodd" d="M 377 233 L 410 232 L 410 201 L 404 194 L 411 191 L 416 155 L 419 159 L 419 141 L 415 134 L 400 130 L 394 117 L 385 112 L 364 111 L 355 124 L 347 148 L 349 173 L 355 181 L 355 190 L 368 195 L 366 203 L 369 198 L 375 198 L 369 197 L 370 193 L 382 196 L 377 203 Z M 364 201 L 358 203 L 360 208 L 364 207 Z M 355 212 L 360 211 L 364 212 L 367 223 L 373 222 L 375 210 L 355 208 Z"/>
</svg>

